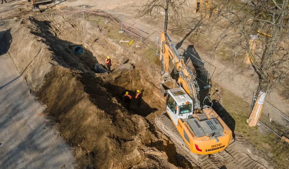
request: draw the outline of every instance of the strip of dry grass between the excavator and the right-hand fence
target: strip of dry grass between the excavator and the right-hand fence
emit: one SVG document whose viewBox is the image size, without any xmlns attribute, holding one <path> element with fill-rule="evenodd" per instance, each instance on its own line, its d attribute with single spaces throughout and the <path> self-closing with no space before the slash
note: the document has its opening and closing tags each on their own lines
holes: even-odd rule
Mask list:
<svg viewBox="0 0 289 169">
<path fill-rule="evenodd" d="M 269 154 L 269 160 L 276 168 L 285 169 L 289 167 L 289 144 L 273 132 L 268 134 L 261 133 L 258 128 L 264 126 L 252 128 L 248 126 L 246 120 L 251 109 L 249 103 L 224 89 L 223 107 L 228 112 L 228 116 L 235 120 L 235 133 L 241 134 L 248 139 L 258 150 Z"/>
</svg>

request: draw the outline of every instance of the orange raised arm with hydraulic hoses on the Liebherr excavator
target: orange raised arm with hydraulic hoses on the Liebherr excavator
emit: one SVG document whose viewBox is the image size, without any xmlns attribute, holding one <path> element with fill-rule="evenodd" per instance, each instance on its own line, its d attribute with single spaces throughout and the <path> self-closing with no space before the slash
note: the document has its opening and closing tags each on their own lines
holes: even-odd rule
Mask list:
<svg viewBox="0 0 289 169">
<path fill-rule="evenodd" d="M 175 74 L 179 74 L 177 83 L 181 84 L 186 93 L 192 98 L 194 102 L 194 112 L 201 112 L 201 105 L 198 99 L 199 86 L 192 71 L 186 67 L 184 57 L 179 54 L 177 48 L 168 37 L 166 31 L 161 33 L 162 51 L 160 52 L 160 60 L 162 62 L 162 82 L 172 81 L 170 75 L 169 61 L 174 64 Z"/>
</svg>

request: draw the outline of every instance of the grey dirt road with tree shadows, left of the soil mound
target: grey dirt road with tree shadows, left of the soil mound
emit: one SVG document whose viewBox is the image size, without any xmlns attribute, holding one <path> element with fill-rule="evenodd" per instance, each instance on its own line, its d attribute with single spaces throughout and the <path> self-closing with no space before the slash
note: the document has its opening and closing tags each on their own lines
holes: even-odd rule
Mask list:
<svg viewBox="0 0 289 169">
<path fill-rule="evenodd" d="M 73 168 L 72 149 L 24 81 L 10 58 L 0 56 L 0 168 Z"/>
</svg>

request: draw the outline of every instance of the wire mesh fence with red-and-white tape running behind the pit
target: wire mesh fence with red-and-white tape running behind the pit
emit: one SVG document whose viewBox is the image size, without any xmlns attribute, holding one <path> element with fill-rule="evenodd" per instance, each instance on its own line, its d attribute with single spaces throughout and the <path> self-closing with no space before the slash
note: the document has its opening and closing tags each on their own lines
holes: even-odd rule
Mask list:
<svg viewBox="0 0 289 169">
<path fill-rule="evenodd" d="M 161 46 L 159 32 L 139 24 L 123 14 L 108 11 L 105 7 L 80 5 L 56 9 L 54 10 L 54 13 L 55 21 L 58 26 L 65 23 L 80 21 L 82 19 L 103 21 L 115 26 L 120 33 L 125 33 L 140 41 L 142 44 L 155 52 L 156 55 L 159 55 L 160 53 Z M 183 48 L 178 48 L 178 51 L 182 56 L 188 58 L 187 61 L 190 60 L 192 62 L 194 66 L 194 68 L 192 68 L 192 72 L 197 79 L 199 79 L 199 81 L 205 85 L 208 85 L 210 64 L 205 63 L 200 58 L 197 58 Z"/>
</svg>

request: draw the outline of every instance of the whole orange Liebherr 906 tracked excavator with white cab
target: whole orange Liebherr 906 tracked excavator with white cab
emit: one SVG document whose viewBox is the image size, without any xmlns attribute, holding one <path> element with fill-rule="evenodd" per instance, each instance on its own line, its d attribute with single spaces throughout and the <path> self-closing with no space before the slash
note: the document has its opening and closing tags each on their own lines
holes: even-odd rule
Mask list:
<svg viewBox="0 0 289 169">
<path fill-rule="evenodd" d="M 166 112 L 155 118 L 156 126 L 184 150 L 184 154 L 201 165 L 210 154 L 224 150 L 232 140 L 232 131 L 212 109 L 201 106 L 199 86 L 192 71 L 164 31 L 161 33 L 161 93 L 166 96 Z M 170 75 L 169 62 L 179 74 L 176 82 Z M 205 99 L 210 100 L 208 96 Z M 210 101 L 212 103 L 212 101 Z M 232 140 L 233 141 L 233 140 Z"/>
</svg>

